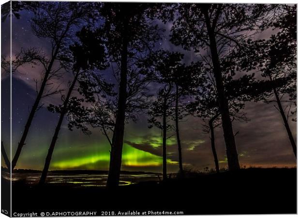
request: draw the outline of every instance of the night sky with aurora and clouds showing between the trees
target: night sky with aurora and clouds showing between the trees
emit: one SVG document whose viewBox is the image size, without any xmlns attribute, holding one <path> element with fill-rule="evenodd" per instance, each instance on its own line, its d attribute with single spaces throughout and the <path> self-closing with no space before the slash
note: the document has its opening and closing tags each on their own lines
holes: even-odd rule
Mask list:
<svg viewBox="0 0 300 218">
<path fill-rule="evenodd" d="M 30 16 L 31 13 L 21 12 L 21 18 L 13 17 L 13 55 L 21 47 L 41 47 L 45 54 L 49 53 L 49 42 L 43 38 L 37 38 L 31 32 Z M 2 23 L 3 28 L 7 28 L 9 19 Z M 166 29 L 163 40 L 159 42 L 159 47 L 172 51 L 184 53 L 184 62 L 197 61 L 193 51 L 185 51 L 180 47 L 175 47 L 168 40 L 171 23 L 164 26 Z M 265 31 L 257 38 L 270 36 L 270 31 Z M 8 45 L 9 35 L 2 31 L 2 45 Z M 9 46 L 2 46 L 2 55 L 9 53 Z M 19 68 L 12 78 L 12 114 L 13 114 L 13 155 L 20 140 L 27 120 L 29 109 L 35 99 L 34 78 L 40 77 L 41 67 L 25 66 Z M 108 69 L 106 74 L 111 72 Z M 69 73 L 64 74 L 64 78 L 57 83 L 67 81 Z M 109 78 L 112 79 L 113 78 Z M 10 78 L 1 71 L 2 97 L 9 96 Z M 56 84 L 57 85 L 57 84 Z M 9 98 L 2 99 L 8 103 Z M 27 138 L 16 168 L 42 170 L 45 163 L 45 156 L 48 146 L 58 121 L 58 114 L 49 112 L 46 106 L 49 103 L 60 103 L 60 96 L 51 96 L 43 99 L 45 107 L 36 113 L 36 117 L 30 128 Z M 233 123 L 236 136 L 237 149 L 240 164 L 247 167 L 294 167 L 296 159 L 293 155 L 290 142 L 288 140 L 285 127 L 279 112 L 272 104 L 263 102 L 246 103 L 244 112 L 250 119 L 248 123 Z M 9 128 L 8 119 L 9 109 L 2 109 L 2 140 L 6 150 L 9 151 Z M 7 126 L 3 128 L 3 126 Z M 296 122 L 290 122 L 290 126 L 296 138 Z M 57 141 L 50 170 L 62 169 L 89 169 L 89 170 L 108 170 L 110 146 L 104 135 L 99 129 L 90 129 L 92 134 L 86 136 L 79 130 L 70 131 L 65 122 L 61 128 Z M 213 156 L 210 149 L 209 134 L 204 133 L 202 121 L 196 117 L 186 117 L 180 123 L 180 133 L 182 140 L 182 158 L 184 167 L 202 171 L 203 168 L 214 167 Z M 173 132 L 168 133 L 169 136 Z M 221 128 L 216 129 L 216 149 L 221 167 L 226 166 L 225 144 Z M 168 172 L 179 170 L 178 167 L 178 148 L 175 135 L 167 141 Z M 5 166 L 3 160 L 2 166 Z M 122 170 L 129 171 L 162 171 L 162 138 L 161 131 L 157 128 L 148 128 L 147 115 L 141 114 L 139 120 L 130 122 L 125 127 Z"/>
</svg>

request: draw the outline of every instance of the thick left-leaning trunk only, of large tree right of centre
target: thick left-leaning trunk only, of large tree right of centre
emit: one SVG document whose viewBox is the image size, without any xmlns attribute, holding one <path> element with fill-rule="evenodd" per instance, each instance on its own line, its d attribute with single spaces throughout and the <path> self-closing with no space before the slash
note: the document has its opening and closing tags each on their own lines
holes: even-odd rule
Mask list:
<svg viewBox="0 0 300 218">
<path fill-rule="evenodd" d="M 207 31 L 210 39 L 210 53 L 213 64 L 213 73 L 216 81 L 216 88 L 218 94 L 219 109 L 222 117 L 222 127 L 224 132 L 224 139 L 226 145 L 226 155 L 228 160 L 228 170 L 234 171 L 240 169 L 239 157 L 236 148 L 236 142 L 233 134 L 232 123 L 230 119 L 228 100 L 225 96 L 225 89 L 222 78 L 222 71 L 219 62 L 219 55 L 217 50 L 217 43 L 214 30 L 210 26 L 210 17 L 208 10 L 203 10 L 206 20 Z"/>
</svg>

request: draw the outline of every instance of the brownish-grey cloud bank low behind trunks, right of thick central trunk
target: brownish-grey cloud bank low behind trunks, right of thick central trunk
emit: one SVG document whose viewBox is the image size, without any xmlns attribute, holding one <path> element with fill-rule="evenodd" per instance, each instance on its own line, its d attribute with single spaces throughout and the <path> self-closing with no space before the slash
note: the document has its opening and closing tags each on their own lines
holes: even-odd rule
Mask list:
<svg viewBox="0 0 300 218">
<path fill-rule="evenodd" d="M 240 165 L 244 166 L 295 166 L 285 127 L 279 112 L 271 104 L 247 102 L 244 112 L 250 119 L 247 123 L 233 122 Z M 159 130 L 145 128 L 146 115 L 142 115 L 141 124 L 129 125 L 128 131 L 134 132 L 124 143 L 151 154 L 162 155 L 162 138 Z M 144 127 L 143 127 L 144 126 Z M 296 123 L 290 122 L 296 136 Z M 172 135 L 173 133 L 169 133 Z M 210 146 L 210 135 L 203 132 L 203 122 L 197 117 L 186 117 L 180 122 L 182 159 L 185 166 L 202 170 L 214 168 Z M 227 166 L 226 149 L 222 128 L 215 129 L 216 150 L 221 167 Z M 167 143 L 168 158 L 178 161 L 176 137 Z"/>
</svg>

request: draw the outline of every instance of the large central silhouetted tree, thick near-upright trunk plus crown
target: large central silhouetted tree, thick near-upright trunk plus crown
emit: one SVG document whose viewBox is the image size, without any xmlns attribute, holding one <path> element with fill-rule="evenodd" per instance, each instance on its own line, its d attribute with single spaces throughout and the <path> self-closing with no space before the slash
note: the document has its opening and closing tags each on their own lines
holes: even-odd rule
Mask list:
<svg viewBox="0 0 300 218">
<path fill-rule="evenodd" d="M 126 114 L 137 109 L 137 104 L 142 105 L 140 93 L 147 80 L 136 71 L 136 60 L 154 48 L 159 30 L 151 21 L 151 4 L 107 2 L 97 4 L 96 8 L 99 19 L 103 20 L 106 47 L 119 85 L 117 101 L 114 101 L 117 107 L 107 179 L 108 187 L 116 187 L 120 179 Z"/>
</svg>

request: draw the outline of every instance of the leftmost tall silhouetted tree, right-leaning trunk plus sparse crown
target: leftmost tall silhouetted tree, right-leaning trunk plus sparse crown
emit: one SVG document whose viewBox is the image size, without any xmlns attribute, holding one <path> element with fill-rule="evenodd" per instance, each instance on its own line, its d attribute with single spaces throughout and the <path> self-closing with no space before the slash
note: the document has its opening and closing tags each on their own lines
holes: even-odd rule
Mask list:
<svg viewBox="0 0 300 218">
<path fill-rule="evenodd" d="M 47 38 L 51 42 L 50 58 L 37 60 L 44 67 L 44 73 L 37 97 L 30 110 L 29 117 L 22 137 L 18 143 L 15 156 L 12 160 L 12 170 L 14 170 L 17 160 L 21 154 L 22 148 L 30 130 L 30 125 L 36 111 L 42 107 L 40 101 L 45 94 L 45 87 L 50 79 L 59 78 L 60 70 L 64 68 L 64 59 L 68 56 L 68 46 L 73 40 L 74 27 L 80 25 L 82 18 L 86 15 L 87 10 L 75 2 L 43 2 L 39 4 L 36 15 L 31 19 L 31 26 L 37 37 Z"/>
</svg>

